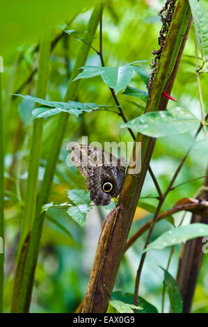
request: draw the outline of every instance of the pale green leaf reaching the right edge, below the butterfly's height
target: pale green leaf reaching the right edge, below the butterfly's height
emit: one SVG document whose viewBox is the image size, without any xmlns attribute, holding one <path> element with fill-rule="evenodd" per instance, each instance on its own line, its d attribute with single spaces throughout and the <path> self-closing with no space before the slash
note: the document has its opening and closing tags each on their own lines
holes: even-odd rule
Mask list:
<svg viewBox="0 0 208 327">
<path fill-rule="evenodd" d="M 207 235 L 208 225 L 203 223 L 192 223 L 187 226 L 179 226 L 161 234 L 161 236 L 150 243 L 143 252 L 153 249 L 160 250 L 168 246 L 186 242 L 188 239 L 195 239 L 195 237 L 204 237 Z"/>
</svg>

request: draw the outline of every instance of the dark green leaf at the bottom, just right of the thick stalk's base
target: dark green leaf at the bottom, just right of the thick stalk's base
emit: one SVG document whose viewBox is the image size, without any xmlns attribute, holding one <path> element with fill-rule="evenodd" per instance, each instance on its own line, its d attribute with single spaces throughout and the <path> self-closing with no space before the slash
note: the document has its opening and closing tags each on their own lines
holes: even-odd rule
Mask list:
<svg viewBox="0 0 208 327">
<path fill-rule="evenodd" d="M 126 293 L 126 292 L 113 292 L 111 294 L 112 300 L 122 301 L 124 303 L 134 303 L 134 294 Z M 157 308 L 154 307 L 151 303 L 147 302 L 141 296 L 138 296 L 138 303 L 141 305 L 143 310 L 137 310 L 136 313 L 158 313 Z"/>
</svg>

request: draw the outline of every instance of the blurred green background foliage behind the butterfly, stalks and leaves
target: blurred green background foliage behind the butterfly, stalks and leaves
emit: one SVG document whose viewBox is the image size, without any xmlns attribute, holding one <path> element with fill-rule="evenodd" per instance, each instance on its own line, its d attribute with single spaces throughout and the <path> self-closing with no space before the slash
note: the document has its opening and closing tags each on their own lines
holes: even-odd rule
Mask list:
<svg viewBox="0 0 208 327">
<path fill-rule="evenodd" d="M 68 23 L 75 17 L 69 29 L 85 31 L 90 18 L 90 5 L 95 1 L 6 1 L 1 3 L 1 53 L 4 61 L 3 71 L 3 103 L 6 120 L 6 280 L 4 310 L 8 312 L 13 277 L 15 271 L 15 256 L 19 226 L 22 216 L 22 201 L 26 186 L 29 143 L 31 136 L 31 111 L 33 104 L 25 99 L 14 98 L 10 94 L 17 93 L 19 86 L 30 76 L 37 65 L 38 52 L 35 47 L 42 29 L 49 24 L 54 26 L 54 38 L 61 33 L 58 24 Z M 103 17 L 103 51 L 106 66 L 117 67 L 137 60 L 146 60 L 142 66 L 151 72 L 153 49 L 158 49 L 157 38 L 161 28 L 158 12 L 165 1 L 161 0 L 120 0 L 107 1 Z M 201 1 L 208 8 L 207 1 Z M 35 3 L 35 4 L 34 4 Z M 2 18 L 2 19 L 1 19 Z M 50 77 L 47 99 L 63 101 L 67 81 L 81 41 L 73 35 L 64 33 L 57 42 L 50 58 Z M 93 47 L 99 49 L 99 33 L 93 40 Z M 90 49 L 87 65 L 100 65 L 99 56 Z M 22 90 L 22 94 L 35 94 L 36 74 L 33 80 Z M 207 76 L 202 74 L 202 93 L 205 109 L 208 106 Z M 145 90 L 145 86 L 138 75 L 130 83 L 131 86 Z M 177 106 L 189 109 L 200 118 L 200 102 L 195 76 L 194 29 L 191 27 L 189 40 L 182 57 L 181 65 L 173 87 L 173 97 L 177 98 Z M 123 110 L 128 120 L 138 115 L 138 108 L 128 101 L 143 105 L 141 100 L 127 95 L 118 94 Z M 113 98 L 106 84 L 100 77 L 83 79 L 77 97 L 79 102 L 95 102 L 114 106 Z M 168 107 L 175 106 L 169 102 Z M 50 149 L 51 136 L 58 133 L 56 117 L 45 120 L 42 159 L 39 173 L 40 182 L 45 169 L 45 160 Z M 51 191 L 50 201 L 63 203 L 67 201 L 67 189 L 85 189 L 83 177 L 77 168 L 66 165 L 66 144 L 70 141 L 81 141 L 81 136 L 88 136 L 88 141 L 131 141 L 129 132 L 120 129 L 121 118 L 108 111 L 93 111 L 83 113 L 79 118 L 70 116 L 67 134 L 56 167 L 56 176 Z M 175 184 L 205 175 L 208 162 L 208 147 L 205 136 L 200 136 L 189 158 L 186 160 L 182 172 Z M 154 149 L 151 161 L 152 170 L 164 191 L 173 176 L 175 169 L 189 147 L 191 132 L 160 138 Z M 163 209 L 173 207 L 177 200 L 193 197 L 202 185 L 202 180 L 195 180 L 189 184 L 170 192 Z M 154 184 L 147 175 L 142 196 L 157 196 Z M 144 201 L 157 205 L 157 200 L 147 198 Z M 35 287 L 31 312 L 74 312 L 83 298 L 90 269 L 93 264 L 97 240 L 101 230 L 102 218 L 107 214 L 103 207 L 94 207 L 88 214 L 86 225 L 81 228 L 70 218 L 64 209 L 50 209 L 47 212 L 45 227 L 42 234 L 38 267 L 35 273 Z M 137 210 L 131 234 L 135 232 L 152 214 Z M 179 222 L 182 213 L 175 214 L 175 223 Z M 51 222 L 56 218 L 72 237 Z M 191 214 L 186 214 L 184 223 L 190 221 Z M 157 224 L 152 239 L 170 228 L 170 223 L 161 221 Z M 134 292 L 134 278 L 141 257 L 146 234 L 132 246 L 123 257 L 114 290 Z M 163 272 L 160 266 L 166 267 L 170 248 L 152 250 L 147 254 L 143 269 L 140 296 L 154 304 L 161 311 L 161 290 L 163 287 Z M 179 257 L 179 246 L 176 247 L 170 264 L 170 273 L 175 276 Z M 205 255 L 200 278 L 195 290 L 193 312 L 208 312 L 208 257 Z M 166 312 L 168 312 L 168 298 L 166 297 Z"/>
</svg>

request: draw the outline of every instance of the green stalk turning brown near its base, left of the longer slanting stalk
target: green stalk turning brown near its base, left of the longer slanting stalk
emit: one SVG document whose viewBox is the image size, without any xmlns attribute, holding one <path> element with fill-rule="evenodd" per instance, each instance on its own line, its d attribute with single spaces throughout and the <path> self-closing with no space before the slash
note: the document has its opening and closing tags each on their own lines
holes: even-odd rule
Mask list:
<svg viewBox="0 0 208 327">
<path fill-rule="evenodd" d="M 38 61 L 38 81 L 36 86 L 36 97 L 45 98 L 47 94 L 47 81 L 49 77 L 49 56 L 51 47 L 51 33 L 45 31 L 40 38 L 40 54 Z M 31 231 L 33 218 L 35 216 L 35 204 L 38 193 L 38 170 L 40 164 L 41 143 L 42 143 L 43 118 L 33 120 L 33 134 L 31 138 L 31 150 L 29 156 L 29 175 L 26 184 L 26 195 L 24 199 L 24 211 L 22 216 L 21 234 L 19 239 L 19 253 L 17 256 L 17 269 L 11 310 L 16 312 L 16 300 L 19 289 L 22 287 L 22 274 L 26 260 L 27 246 L 29 244 L 28 234 Z M 25 243 L 26 240 L 26 243 Z"/>
</svg>

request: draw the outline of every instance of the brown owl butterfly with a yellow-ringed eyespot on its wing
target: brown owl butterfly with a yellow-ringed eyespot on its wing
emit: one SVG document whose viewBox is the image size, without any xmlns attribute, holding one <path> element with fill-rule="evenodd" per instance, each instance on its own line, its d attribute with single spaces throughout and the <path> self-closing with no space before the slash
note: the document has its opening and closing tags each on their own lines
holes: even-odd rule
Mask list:
<svg viewBox="0 0 208 327">
<path fill-rule="evenodd" d="M 113 154 L 91 145 L 72 147 L 70 157 L 86 178 L 90 199 L 95 205 L 109 205 L 120 193 L 125 178 L 126 163 Z"/>
</svg>

